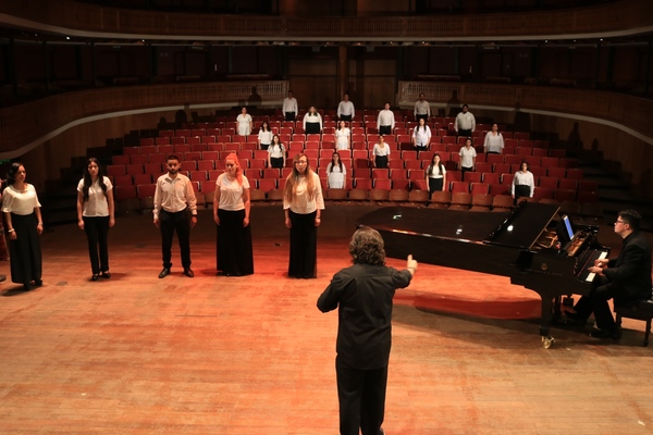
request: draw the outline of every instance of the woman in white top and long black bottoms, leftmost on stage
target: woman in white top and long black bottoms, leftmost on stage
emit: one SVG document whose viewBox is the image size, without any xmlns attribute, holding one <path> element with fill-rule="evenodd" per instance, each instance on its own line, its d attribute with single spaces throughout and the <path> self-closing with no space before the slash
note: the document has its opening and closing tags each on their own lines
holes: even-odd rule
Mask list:
<svg viewBox="0 0 653 435">
<path fill-rule="evenodd" d="M 38 236 L 44 232 L 40 203 L 33 185 L 25 183 L 22 163 L 12 163 L 2 192 L 2 212 L 9 235 L 11 281 L 25 290 L 42 285 L 42 259 Z"/>
</svg>

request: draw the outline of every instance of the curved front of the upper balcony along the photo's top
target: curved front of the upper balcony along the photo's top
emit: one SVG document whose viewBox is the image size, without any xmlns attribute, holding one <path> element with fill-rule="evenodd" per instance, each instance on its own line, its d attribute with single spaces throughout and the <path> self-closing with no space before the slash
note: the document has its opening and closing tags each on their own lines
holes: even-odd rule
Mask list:
<svg viewBox="0 0 653 435">
<path fill-rule="evenodd" d="M 70 0 L 0 0 L 0 23 L 81 37 L 162 40 L 496 41 L 644 34 L 649 0 L 519 14 L 296 17 L 167 13 Z"/>
</svg>

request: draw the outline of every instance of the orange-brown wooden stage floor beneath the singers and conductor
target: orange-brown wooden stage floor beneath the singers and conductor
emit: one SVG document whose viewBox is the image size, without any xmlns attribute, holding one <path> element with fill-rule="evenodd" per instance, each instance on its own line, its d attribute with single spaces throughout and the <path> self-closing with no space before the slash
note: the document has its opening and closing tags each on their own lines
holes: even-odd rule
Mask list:
<svg viewBox="0 0 653 435">
<path fill-rule="evenodd" d="M 0 284 L 0 434 L 336 434 L 337 314 L 316 301 L 370 207 L 324 212 L 317 279 L 285 277 L 281 208 L 252 209 L 248 277 L 215 276 L 210 211 L 192 235 L 195 278 L 176 247 L 157 277 L 150 214 L 118 216 L 113 277 L 97 283 L 84 233 L 50 228 L 45 285 Z M 554 328 L 543 349 L 539 309 L 507 278 L 420 264 L 395 298 L 386 433 L 653 433 L 643 322 L 627 320 L 619 343 Z"/>
</svg>

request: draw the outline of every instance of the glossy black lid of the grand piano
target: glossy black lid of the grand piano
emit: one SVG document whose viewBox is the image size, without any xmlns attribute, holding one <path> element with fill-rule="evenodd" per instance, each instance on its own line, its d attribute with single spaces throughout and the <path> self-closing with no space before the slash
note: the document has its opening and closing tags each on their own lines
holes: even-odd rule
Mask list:
<svg viewBox="0 0 653 435">
<path fill-rule="evenodd" d="M 528 249 L 558 209 L 532 202 L 521 202 L 513 212 L 385 207 L 361 216 L 358 225 L 381 232 Z"/>
</svg>

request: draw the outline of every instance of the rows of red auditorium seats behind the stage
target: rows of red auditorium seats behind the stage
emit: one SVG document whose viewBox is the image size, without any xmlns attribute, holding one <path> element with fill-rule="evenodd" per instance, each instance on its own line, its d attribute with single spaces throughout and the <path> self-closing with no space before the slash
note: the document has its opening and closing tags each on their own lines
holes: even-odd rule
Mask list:
<svg viewBox="0 0 653 435">
<path fill-rule="evenodd" d="M 301 120 L 301 114 L 298 120 Z M 510 185 L 514 173 L 527 161 L 535 178 L 533 198 L 529 200 L 562 203 L 578 209 L 589 208 L 596 214 L 597 184 L 583 178 L 577 161 L 565 157 L 564 149 L 552 148 L 547 140 L 533 140 L 527 132 L 508 132 L 500 126 L 505 139 L 502 154 L 485 154 L 483 139 L 490 124 L 478 124 L 473 134 L 477 167 L 463 179 L 457 170 L 458 151 L 465 138 L 456 137 L 454 119 L 432 117 L 429 126 L 432 140 L 429 151 L 415 151 L 410 145 L 411 111 L 395 112 L 395 130 L 385 136 L 391 148 L 389 169 L 372 167 L 372 148 L 379 140 L 377 111 L 364 111 L 352 122 L 352 149 L 338 150 L 346 167 L 346 188 L 328 189 L 326 166 L 335 148 L 334 113 L 323 114 L 321 135 L 306 135 L 301 121 L 285 122 L 281 115 L 255 116 L 255 134 L 238 136 L 232 116 L 218 116 L 212 123 L 193 123 L 181 129 L 162 129 L 157 137 L 140 139 L 138 147 L 124 147 L 114 156 L 107 175 L 115 186 L 119 203 L 128 209 L 151 207 L 155 183 L 165 169 L 170 154 L 182 161 L 198 192 L 198 201 L 212 202 L 215 179 L 224 171 L 224 159 L 232 152 L 251 186 L 252 201 L 279 201 L 285 179 L 292 171 L 293 157 L 304 152 L 322 182 L 326 200 L 391 201 L 430 203 L 430 207 L 458 210 L 506 210 L 513 207 Z M 362 120 L 360 120 L 362 119 Z M 258 149 L 258 129 L 268 121 L 286 147 L 286 167 L 268 167 L 268 152 Z M 429 199 L 426 171 L 434 153 L 439 153 L 447 170 L 446 191 Z M 123 208 L 124 208 L 123 207 Z M 600 213 L 599 213 L 600 214 Z"/>
</svg>

